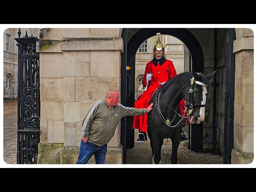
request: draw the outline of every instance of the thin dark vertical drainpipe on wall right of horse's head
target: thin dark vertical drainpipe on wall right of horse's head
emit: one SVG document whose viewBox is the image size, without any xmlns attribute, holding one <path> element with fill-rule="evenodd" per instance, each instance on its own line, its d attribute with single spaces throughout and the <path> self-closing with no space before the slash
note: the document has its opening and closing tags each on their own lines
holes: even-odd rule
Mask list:
<svg viewBox="0 0 256 192">
<path fill-rule="evenodd" d="M 217 69 L 217 28 L 214 28 L 214 71 Z M 216 86 L 218 83 L 216 82 L 216 75 L 214 75 L 214 82 L 212 82 L 213 86 L 213 117 L 212 117 L 212 141 L 211 145 L 218 149 L 218 144 L 216 142 Z"/>
</svg>

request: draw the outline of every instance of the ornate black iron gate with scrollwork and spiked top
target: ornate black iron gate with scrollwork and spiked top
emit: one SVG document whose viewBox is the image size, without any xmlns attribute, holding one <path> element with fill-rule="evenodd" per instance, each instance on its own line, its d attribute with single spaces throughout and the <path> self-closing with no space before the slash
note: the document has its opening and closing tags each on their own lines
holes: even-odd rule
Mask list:
<svg viewBox="0 0 256 192">
<path fill-rule="evenodd" d="M 40 142 L 40 79 L 36 41 L 18 31 L 17 164 L 37 164 Z"/>
</svg>

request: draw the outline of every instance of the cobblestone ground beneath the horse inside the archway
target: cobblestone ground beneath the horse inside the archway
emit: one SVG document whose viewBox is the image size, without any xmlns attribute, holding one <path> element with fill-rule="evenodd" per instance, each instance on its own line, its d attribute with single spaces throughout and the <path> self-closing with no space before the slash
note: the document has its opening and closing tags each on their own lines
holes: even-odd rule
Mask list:
<svg viewBox="0 0 256 192">
<path fill-rule="evenodd" d="M 138 129 L 135 130 L 135 146 L 127 149 L 126 163 L 127 164 L 152 164 L 152 150 L 150 140 L 146 142 L 136 142 Z M 164 139 L 164 144 L 161 150 L 162 164 L 172 164 L 170 162 L 172 152 L 172 141 Z M 178 164 L 223 164 L 223 156 L 211 152 L 193 152 L 189 150 L 184 142 L 180 143 L 178 148 Z"/>
</svg>

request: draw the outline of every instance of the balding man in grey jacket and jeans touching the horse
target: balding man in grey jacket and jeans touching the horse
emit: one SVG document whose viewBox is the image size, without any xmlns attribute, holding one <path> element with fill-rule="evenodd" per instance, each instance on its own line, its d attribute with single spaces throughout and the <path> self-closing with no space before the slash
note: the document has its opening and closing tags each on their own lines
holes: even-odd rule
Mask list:
<svg viewBox="0 0 256 192">
<path fill-rule="evenodd" d="M 76 164 L 87 164 L 93 154 L 96 164 L 104 164 L 107 144 L 114 136 L 121 118 L 143 115 L 152 110 L 153 103 L 148 108 L 136 109 L 118 104 L 119 100 L 119 93 L 109 90 L 106 97 L 90 106 L 82 124 L 82 139 Z"/>
</svg>

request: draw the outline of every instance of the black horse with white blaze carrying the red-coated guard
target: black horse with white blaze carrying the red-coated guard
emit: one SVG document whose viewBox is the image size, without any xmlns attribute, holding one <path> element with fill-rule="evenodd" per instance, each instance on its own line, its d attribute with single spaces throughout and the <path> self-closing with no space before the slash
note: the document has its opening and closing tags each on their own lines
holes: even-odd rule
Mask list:
<svg viewBox="0 0 256 192">
<path fill-rule="evenodd" d="M 172 140 L 171 163 L 178 162 L 178 146 L 184 119 L 189 118 L 191 124 L 200 124 L 204 120 L 206 103 L 206 86 L 216 71 L 208 76 L 192 72 L 184 72 L 171 78 L 152 96 L 153 109 L 148 113 L 148 136 L 152 148 L 152 163 L 161 163 L 161 148 L 164 138 Z M 184 116 L 177 107 L 184 98 Z"/>
</svg>

